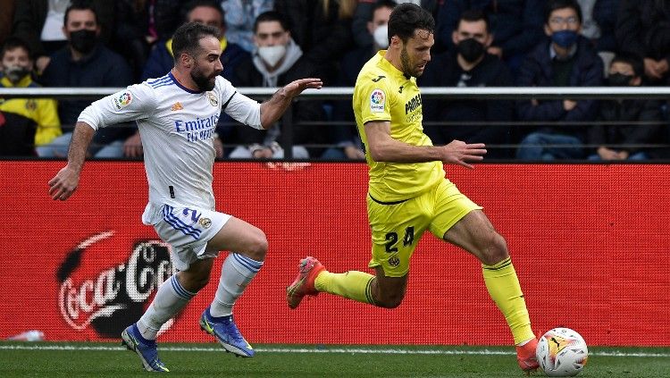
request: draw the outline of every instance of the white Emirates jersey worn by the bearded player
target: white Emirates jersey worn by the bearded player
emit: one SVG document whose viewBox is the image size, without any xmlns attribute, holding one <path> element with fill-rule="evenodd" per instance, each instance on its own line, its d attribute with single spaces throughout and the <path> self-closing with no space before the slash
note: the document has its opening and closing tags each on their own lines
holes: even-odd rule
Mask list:
<svg viewBox="0 0 670 378">
<path fill-rule="evenodd" d="M 214 130 L 222 107 L 235 120 L 263 129 L 260 104 L 237 93 L 228 80 L 218 76 L 213 90 L 197 92 L 183 87 L 172 72 L 97 100 L 79 121 L 95 130 L 138 123 L 149 183 L 142 219 L 153 224 L 163 205 L 214 210 Z"/>
</svg>

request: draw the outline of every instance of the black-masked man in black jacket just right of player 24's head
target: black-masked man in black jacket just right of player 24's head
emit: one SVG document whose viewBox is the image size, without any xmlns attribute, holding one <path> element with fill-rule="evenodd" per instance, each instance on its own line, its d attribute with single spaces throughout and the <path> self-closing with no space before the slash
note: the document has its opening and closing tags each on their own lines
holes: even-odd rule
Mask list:
<svg viewBox="0 0 670 378">
<path fill-rule="evenodd" d="M 455 49 L 433 58 L 419 79 L 424 87 L 511 87 L 512 75 L 497 55 L 487 52 L 493 41 L 486 15 L 479 10 L 461 13 L 451 35 Z M 506 158 L 510 152 L 497 145 L 510 140 L 507 126 L 514 104 L 506 100 L 426 99 L 423 120 L 428 122 L 467 122 L 457 126 L 425 125 L 424 131 L 436 146 L 454 139 L 465 143 L 485 143 L 487 158 Z M 477 122 L 474 123 L 473 122 Z"/>
</svg>

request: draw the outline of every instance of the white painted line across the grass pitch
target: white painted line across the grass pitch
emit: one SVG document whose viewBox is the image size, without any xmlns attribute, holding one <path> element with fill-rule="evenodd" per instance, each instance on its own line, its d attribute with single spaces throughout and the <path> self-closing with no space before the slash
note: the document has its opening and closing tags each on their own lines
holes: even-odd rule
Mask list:
<svg viewBox="0 0 670 378">
<path fill-rule="evenodd" d="M 220 352 L 221 348 L 203 348 L 203 347 L 161 347 L 161 351 L 170 352 Z M 125 350 L 122 347 L 105 346 L 77 346 L 77 345 L 0 345 L 0 350 L 102 350 L 119 351 Z M 381 355 L 444 355 L 444 356 L 493 356 L 493 355 L 515 355 L 514 352 L 503 350 L 439 350 L 439 349 L 359 349 L 359 348 L 257 348 L 257 352 L 262 353 L 350 353 L 350 354 L 381 354 Z M 590 356 L 603 357 L 670 357 L 670 353 L 644 353 L 644 352 L 622 352 L 622 351 L 602 351 L 590 352 Z"/>
</svg>

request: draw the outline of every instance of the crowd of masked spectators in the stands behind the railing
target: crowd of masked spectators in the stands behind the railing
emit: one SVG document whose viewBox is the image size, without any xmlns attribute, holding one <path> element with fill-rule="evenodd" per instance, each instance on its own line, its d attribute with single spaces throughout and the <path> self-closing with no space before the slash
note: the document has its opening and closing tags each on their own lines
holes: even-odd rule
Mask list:
<svg viewBox="0 0 670 378">
<path fill-rule="evenodd" d="M 3 88 L 121 88 L 172 68 L 185 21 L 221 30 L 222 76 L 236 87 L 304 77 L 353 87 L 389 44 L 391 0 L 0 0 Z M 414 0 L 436 20 L 420 87 L 666 86 L 670 2 L 662 0 Z M 76 90 L 76 89 L 73 89 Z M 64 157 L 90 99 L 0 98 L 0 155 Z M 623 99 L 423 102 L 434 144 L 487 143 L 492 159 L 670 157 L 666 101 Z M 225 114 L 222 114 L 225 115 Z M 241 128 L 222 116 L 220 158 L 363 159 L 347 100 L 297 101 L 289 126 Z M 328 123 L 326 125 L 326 123 Z M 512 126 L 514 125 L 514 126 Z M 98 158 L 141 158 L 133 124 L 97 133 Z"/>
</svg>

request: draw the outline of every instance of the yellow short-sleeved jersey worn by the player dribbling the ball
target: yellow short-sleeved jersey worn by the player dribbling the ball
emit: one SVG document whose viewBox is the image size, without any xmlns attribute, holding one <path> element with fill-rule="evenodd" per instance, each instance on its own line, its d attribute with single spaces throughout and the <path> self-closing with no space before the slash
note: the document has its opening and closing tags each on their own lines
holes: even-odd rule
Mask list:
<svg viewBox="0 0 670 378">
<path fill-rule="evenodd" d="M 381 50 L 358 73 L 354 87 L 354 115 L 361 139 L 367 146 L 364 124 L 389 121 L 390 136 L 413 146 L 432 146 L 423 133 L 421 92 L 415 78 L 406 77 Z M 370 166 L 369 194 L 380 202 L 397 202 L 417 197 L 445 177 L 442 162 L 375 162 L 369 148 L 365 160 Z"/>
</svg>

